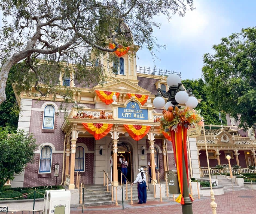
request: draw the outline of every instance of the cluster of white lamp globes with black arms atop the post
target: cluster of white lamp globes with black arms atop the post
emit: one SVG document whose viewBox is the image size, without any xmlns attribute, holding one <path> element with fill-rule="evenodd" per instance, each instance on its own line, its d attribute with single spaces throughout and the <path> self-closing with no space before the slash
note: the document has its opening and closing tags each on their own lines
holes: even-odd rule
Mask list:
<svg viewBox="0 0 256 214">
<path fill-rule="evenodd" d="M 185 104 L 187 107 L 193 109 L 196 108 L 198 101 L 196 97 L 192 94 L 192 90 L 185 89 L 182 87 L 181 78 L 177 74 L 170 74 L 167 77 L 167 84 L 169 86 L 169 90 L 166 93 L 163 93 L 161 89 L 157 89 L 159 91 L 153 100 L 153 105 L 155 108 L 161 109 L 165 107 L 166 110 L 170 106 L 173 106 L 173 103 Z M 165 103 L 164 98 L 168 98 L 167 103 Z"/>
</svg>

